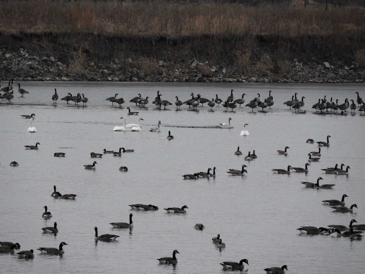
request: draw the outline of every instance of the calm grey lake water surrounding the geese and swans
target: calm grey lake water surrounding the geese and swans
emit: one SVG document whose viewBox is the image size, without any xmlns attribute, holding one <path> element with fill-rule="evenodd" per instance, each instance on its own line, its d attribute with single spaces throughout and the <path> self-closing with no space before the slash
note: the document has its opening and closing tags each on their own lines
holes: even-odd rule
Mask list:
<svg viewBox="0 0 365 274">
<path fill-rule="evenodd" d="M 194 83 L 77 83 L 22 82 L 29 94 L 15 93 L 11 103 L 0 100 L 0 173 L 1 214 L 0 241 L 19 242 L 21 250 L 34 250 L 33 260 L 0 254 L 4 273 L 222 273 L 219 263 L 239 262 L 246 258 L 249 273 L 265 273 L 271 266 L 288 265 L 287 273 L 362 273 L 365 241 L 331 236 L 300 236 L 300 226 L 327 227 L 349 225 L 351 219 L 365 224 L 364 187 L 364 115 L 347 110 L 345 115 L 318 115 L 311 109 L 324 95 L 327 99 L 355 99 L 355 92 L 365 97 L 360 84 L 194 84 Z M 84 93 L 87 106 L 75 106 L 60 99 L 53 104 L 51 96 L 57 88 L 59 98 L 68 92 Z M 191 92 L 207 99 L 225 100 L 234 90 L 234 99 L 245 93 L 246 103 L 272 91 L 272 109 L 236 107 L 233 112 L 204 104 L 191 111 L 183 105 L 176 111 L 175 96 L 188 100 Z M 161 99 L 172 106 L 156 109 L 151 102 L 160 91 Z M 295 114 L 283 103 L 297 92 L 305 96 L 302 110 Z M 105 101 L 119 95 L 126 103 Z M 145 108 L 129 100 L 141 93 L 148 96 Z M 2 92 L 1 92 L 2 94 Z M 127 115 L 126 107 L 139 111 Z M 29 119 L 20 115 L 35 114 L 37 133 L 28 133 Z M 136 123 L 144 119 L 141 132 L 113 132 L 122 119 Z M 219 123 L 232 118 L 231 129 Z M 161 132 L 149 132 L 161 120 Z M 243 125 L 250 136 L 240 136 Z M 174 140 L 167 140 L 168 131 Z M 312 162 L 307 174 L 273 174 L 273 168 L 304 167 L 308 153 L 318 151 L 306 140 L 326 141 L 319 162 Z M 39 149 L 26 150 L 24 145 Z M 242 156 L 234 155 L 240 147 Z M 288 156 L 277 150 L 289 146 Z M 92 159 L 90 152 L 103 149 L 118 151 L 120 147 L 134 153 L 111 154 Z M 255 150 L 257 159 L 245 161 Z M 65 152 L 66 157 L 54 157 Z M 96 170 L 83 165 L 96 161 Z M 18 167 L 10 167 L 17 161 Z M 350 166 L 350 175 L 325 175 L 322 168 L 335 163 Z M 240 170 L 247 165 L 246 176 L 231 176 L 230 168 Z M 120 172 L 127 166 L 128 172 Z M 181 175 L 206 172 L 216 167 L 216 177 L 184 180 Z M 331 190 L 306 189 L 301 181 L 335 184 Z M 76 200 L 60 200 L 50 196 L 53 185 L 61 194 L 77 194 Z M 356 203 L 354 213 L 334 213 L 323 205 L 324 199 L 339 199 L 346 206 Z M 128 206 L 152 204 L 157 211 L 140 212 Z M 43 206 L 53 217 L 42 218 Z M 186 214 L 169 214 L 164 208 L 187 205 Z M 133 229 L 115 229 L 111 222 L 128 222 L 133 213 Z M 57 222 L 59 233 L 43 234 L 42 227 Z M 203 223 L 205 229 L 194 229 Z M 356 223 L 355 223 L 356 224 Z M 115 242 L 95 242 L 94 230 L 119 235 Z M 219 250 L 211 238 L 221 235 L 226 248 Z M 58 247 L 65 241 L 63 256 L 42 255 L 39 247 Z M 159 265 L 157 258 L 172 256 L 178 250 L 176 266 Z"/>
</svg>

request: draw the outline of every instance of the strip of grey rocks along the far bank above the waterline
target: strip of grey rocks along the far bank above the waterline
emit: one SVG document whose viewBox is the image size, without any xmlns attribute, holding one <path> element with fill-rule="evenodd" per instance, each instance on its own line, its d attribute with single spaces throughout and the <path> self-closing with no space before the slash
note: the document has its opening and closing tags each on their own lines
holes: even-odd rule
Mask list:
<svg viewBox="0 0 365 274">
<path fill-rule="evenodd" d="M 208 64 L 193 58 L 175 64 L 171 68 L 164 61 L 157 61 L 158 75 L 147 75 L 135 68 L 137 61 L 114 59 L 110 63 L 88 65 L 81 71 L 63 64 L 52 56 L 39 56 L 20 49 L 14 52 L 0 51 L 0 79 L 17 81 L 147 81 L 147 82 L 204 82 L 204 83 L 365 83 L 365 69 L 357 62 L 345 65 L 341 61 L 311 62 L 304 65 L 300 60 L 291 62 L 287 75 L 237 75 L 235 68 Z M 123 64 L 123 65 L 122 65 Z M 126 64 L 130 64 L 129 68 Z M 201 71 L 208 69 L 208 74 Z"/>
</svg>

